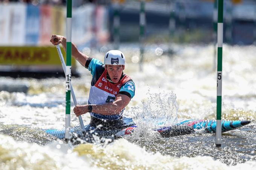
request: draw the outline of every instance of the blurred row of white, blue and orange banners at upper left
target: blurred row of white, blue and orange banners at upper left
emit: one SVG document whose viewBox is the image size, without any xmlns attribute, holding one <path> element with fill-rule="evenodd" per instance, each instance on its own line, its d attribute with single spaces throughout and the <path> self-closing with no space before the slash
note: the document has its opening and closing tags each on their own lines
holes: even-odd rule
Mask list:
<svg viewBox="0 0 256 170">
<path fill-rule="evenodd" d="M 94 46 L 108 40 L 108 10 L 88 4 L 72 9 L 72 42 Z M 66 7 L 0 4 L 0 46 L 50 45 L 52 34 L 66 35 Z"/>
</svg>

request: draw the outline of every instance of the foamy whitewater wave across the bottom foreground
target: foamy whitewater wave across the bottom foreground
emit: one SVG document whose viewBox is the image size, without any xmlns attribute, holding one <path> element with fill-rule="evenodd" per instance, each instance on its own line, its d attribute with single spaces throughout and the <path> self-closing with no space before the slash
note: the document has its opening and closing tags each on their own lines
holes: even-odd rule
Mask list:
<svg viewBox="0 0 256 170">
<path fill-rule="evenodd" d="M 6 169 L 252 169 L 255 161 L 228 166 L 211 157 L 171 157 L 119 139 L 109 145 L 80 144 L 76 148 L 62 141 L 46 146 L 15 142 L 0 135 L 0 168 Z"/>
</svg>

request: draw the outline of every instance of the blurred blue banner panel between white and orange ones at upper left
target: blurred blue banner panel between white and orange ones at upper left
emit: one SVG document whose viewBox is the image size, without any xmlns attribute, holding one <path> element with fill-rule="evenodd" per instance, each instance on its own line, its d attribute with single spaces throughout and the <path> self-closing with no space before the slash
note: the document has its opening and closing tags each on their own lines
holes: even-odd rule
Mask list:
<svg viewBox="0 0 256 170">
<path fill-rule="evenodd" d="M 26 45 L 38 45 L 40 10 L 38 6 L 27 5 Z"/>
</svg>

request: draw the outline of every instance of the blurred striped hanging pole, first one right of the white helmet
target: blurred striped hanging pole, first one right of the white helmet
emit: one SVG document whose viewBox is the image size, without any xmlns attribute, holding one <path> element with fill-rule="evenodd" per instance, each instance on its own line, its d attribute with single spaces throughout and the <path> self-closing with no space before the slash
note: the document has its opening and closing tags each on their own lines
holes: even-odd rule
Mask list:
<svg viewBox="0 0 256 170">
<path fill-rule="evenodd" d="M 143 70 L 143 54 L 144 54 L 144 39 L 145 39 L 145 0 L 140 1 L 140 71 Z"/>
</svg>

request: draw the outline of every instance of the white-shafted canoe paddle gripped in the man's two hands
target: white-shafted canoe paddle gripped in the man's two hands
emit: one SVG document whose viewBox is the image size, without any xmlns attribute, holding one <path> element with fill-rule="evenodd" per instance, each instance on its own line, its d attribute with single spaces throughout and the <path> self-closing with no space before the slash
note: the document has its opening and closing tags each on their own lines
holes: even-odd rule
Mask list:
<svg viewBox="0 0 256 170">
<path fill-rule="evenodd" d="M 58 42 L 58 39 L 56 41 Z M 61 60 L 62 68 L 63 68 L 65 76 L 66 76 L 66 65 L 65 65 L 65 61 L 64 61 L 64 58 L 63 58 L 63 55 L 62 55 L 62 52 L 61 52 L 61 48 L 59 47 L 59 45 L 56 45 L 56 48 L 57 48 L 57 51 L 58 51 L 59 59 Z M 74 104 L 76 106 L 77 105 L 77 101 L 76 101 L 76 96 L 75 96 L 72 84 L 71 84 L 71 95 L 72 95 Z M 84 122 L 82 120 L 81 115 L 78 116 L 78 119 L 79 119 L 79 122 L 80 122 L 80 127 L 82 129 L 82 132 L 84 132 L 85 131 Z"/>
</svg>

